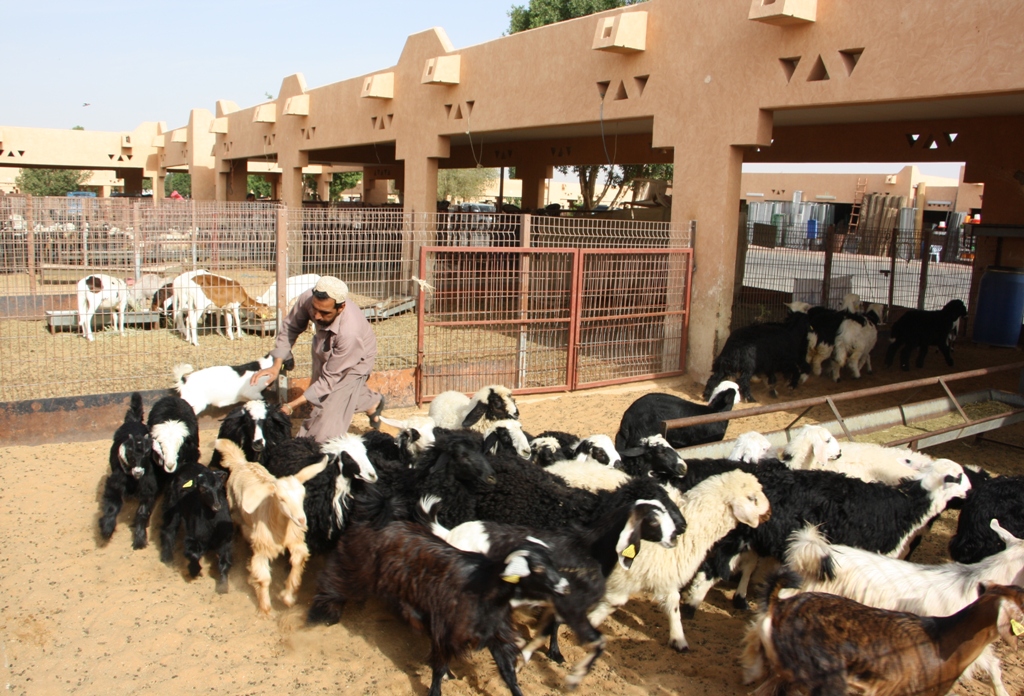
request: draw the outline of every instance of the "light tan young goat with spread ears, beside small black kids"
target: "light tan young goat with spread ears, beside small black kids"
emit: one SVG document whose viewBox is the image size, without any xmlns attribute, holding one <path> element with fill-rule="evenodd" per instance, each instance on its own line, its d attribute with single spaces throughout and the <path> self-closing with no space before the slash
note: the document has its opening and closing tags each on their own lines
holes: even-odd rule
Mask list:
<svg viewBox="0 0 1024 696">
<path fill-rule="evenodd" d="M 270 613 L 270 563 L 288 550 L 292 566 L 281 601 L 295 604 L 295 594 L 302 584 L 302 571 L 309 550 L 306 548 L 306 514 L 302 505 L 303 484 L 328 465 L 328 456 L 302 469 L 294 476 L 274 478 L 261 465 L 246 461 L 245 452 L 230 440 L 218 439 L 216 449 L 227 477 L 227 502 L 242 534 L 252 548 L 249 584 L 256 590 L 259 610 Z"/>
</svg>

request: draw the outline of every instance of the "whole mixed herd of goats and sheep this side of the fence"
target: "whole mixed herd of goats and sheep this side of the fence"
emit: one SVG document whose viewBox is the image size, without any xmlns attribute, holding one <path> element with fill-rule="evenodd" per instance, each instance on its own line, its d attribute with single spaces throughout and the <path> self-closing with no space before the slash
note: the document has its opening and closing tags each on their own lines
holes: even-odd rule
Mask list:
<svg viewBox="0 0 1024 696">
<path fill-rule="evenodd" d="M 781 372 L 796 386 L 826 359 L 834 377 L 844 364 L 869 368 L 879 309 L 861 311 L 855 297 L 844 305 L 795 303 L 783 322 L 734 332 L 707 403 L 644 394 L 614 438 L 526 433 L 511 391 L 490 385 L 472 397 L 444 392 L 427 416 L 383 418 L 396 435 L 317 443 L 293 437 L 291 419 L 262 399 L 266 385 L 250 384 L 268 356 L 178 365 L 177 395 L 147 419 L 132 395 L 111 446 L 99 529 L 110 539 L 124 499 L 137 498 L 132 546 L 144 548 L 162 497 L 161 559 L 173 561 L 182 536 L 191 576 L 216 558 L 218 592 L 227 592 L 240 530 L 264 614 L 274 559 L 288 552 L 279 599 L 293 606 L 307 559 L 325 555 L 307 621 L 332 624 L 347 602 L 379 598 L 429 636 L 432 696 L 454 659 L 482 648 L 520 694 L 517 668 L 545 644 L 550 660 L 564 661 L 563 623 L 584 651 L 566 675 L 577 686 L 604 650 L 603 620 L 641 595 L 662 605 L 669 644 L 687 650 L 683 616 L 734 575 L 733 602 L 748 609 L 759 565 L 778 568 L 741 651 L 744 683 L 762 682 L 756 693 L 944 694 L 979 673 L 1009 696 L 991 644 L 1024 633 L 1024 477 L 840 442 L 821 426 L 794 432 L 781 449 L 744 433 L 726 459 L 679 452 L 723 440 L 724 422 L 662 434 L 665 421 L 750 398 L 754 375 L 773 384 Z M 916 347 L 920 365 L 936 345 L 951 364 L 964 314 L 959 301 L 908 312 L 893 327 L 889 361 L 902 347 L 908 367 Z M 234 404 L 201 463 L 197 414 Z M 906 560 L 947 509 L 959 511 L 952 561 Z M 513 623 L 522 608 L 536 619 L 525 638 Z"/>
</svg>

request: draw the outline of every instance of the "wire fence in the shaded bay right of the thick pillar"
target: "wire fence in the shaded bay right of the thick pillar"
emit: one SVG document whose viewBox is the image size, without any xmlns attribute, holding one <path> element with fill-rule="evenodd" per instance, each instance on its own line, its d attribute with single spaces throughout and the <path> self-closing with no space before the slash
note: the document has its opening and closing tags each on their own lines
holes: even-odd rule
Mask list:
<svg viewBox="0 0 1024 696">
<path fill-rule="evenodd" d="M 961 225 L 948 233 L 862 226 L 844 234 L 815 227 L 748 225 L 733 328 L 781 318 L 792 300 L 838 308 L 848 293 L 883 305 L 887 316 L 970 301 L 974 241 Z"/>
</svg>

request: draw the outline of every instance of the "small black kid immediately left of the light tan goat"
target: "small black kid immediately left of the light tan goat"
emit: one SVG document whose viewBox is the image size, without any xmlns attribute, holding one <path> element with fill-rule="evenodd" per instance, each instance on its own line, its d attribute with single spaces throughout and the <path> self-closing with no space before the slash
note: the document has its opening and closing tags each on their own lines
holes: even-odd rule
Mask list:
<svg viewBox="0 0 1024 696">
<path fill-rule="evenodd" d="M 227 508 L 224 482 L 227 472 L 187 463 L 174 472 L 164 496 L 164 525 L 160 532 L 160 560 L 174 560 L 178 528 L 184 525 L 184 551 L 188 574 L 197 577 L 202 570 L 200 559 L 208 552 L 217 554 L 217 592 L 227 592 L 227 572 L 231 569 L 231 540 L 234 525 Z"/>
</svg>

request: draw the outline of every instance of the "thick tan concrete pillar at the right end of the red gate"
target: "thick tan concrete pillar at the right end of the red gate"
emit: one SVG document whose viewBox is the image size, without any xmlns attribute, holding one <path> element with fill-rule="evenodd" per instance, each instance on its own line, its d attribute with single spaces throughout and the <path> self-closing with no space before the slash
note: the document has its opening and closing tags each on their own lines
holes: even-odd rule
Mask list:
<svg viewBox="0 0 1024 696">
<path fill-rule="evenodd" d="M 729 144 L 694 147 L 691 141 L 675 147 L 672 226 L 686 230 L 695 221 L 686 366 L 698 382 L 711 376 L 729 336 L 742 163 L 740 148 Z"/>
</svg>

